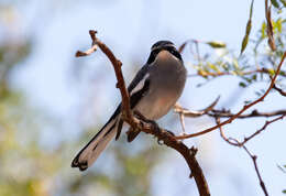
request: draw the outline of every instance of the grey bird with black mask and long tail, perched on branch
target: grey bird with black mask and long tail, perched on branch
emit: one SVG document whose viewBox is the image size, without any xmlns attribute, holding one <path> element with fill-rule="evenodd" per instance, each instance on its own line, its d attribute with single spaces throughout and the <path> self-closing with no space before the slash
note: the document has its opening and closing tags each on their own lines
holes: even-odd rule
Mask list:
<svg viewBox="0 0 286 196">
<path fill-rule="evenodd" d="M 158 41 L 151 47 L 145 65 L 136 73 L 128 87 L 130 108 L 148 120 L 165 116 L 180 97 L 187 70 L 180 53 L 170 41 Z M 110 141 L 120 137 L 123 126 L 121 104 L 101 130 L 84 146 L 72 162 L 72 167 L 85 171 L 90 167 Z M 139 131 L 129 131 L 133 141 Z"/>
</svg>

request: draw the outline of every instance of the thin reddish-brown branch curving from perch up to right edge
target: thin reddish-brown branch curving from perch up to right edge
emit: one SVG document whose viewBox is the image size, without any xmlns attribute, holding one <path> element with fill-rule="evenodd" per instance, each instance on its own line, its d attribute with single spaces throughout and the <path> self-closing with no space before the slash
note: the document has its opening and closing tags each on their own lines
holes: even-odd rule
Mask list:
<svg viewBox="0 0 286 196">
<path fill-rule="evenodd" d="M 213 126 L 213 127 L 211 127 L 211 128 L 209 128 L 209 129 L 206 129 L 206 130 L 200 131 L 200 132 L 197 132 L 197 133 L 176 137 L 176 139 L 194 138 L 194 137 L 202 135 L 202 134 L 206 134 L 206 133 L 208 133 L 208 132 L 210 132 L 210 131 L 213 131 L 213 130 L 216 130 L 216 129 L 218 129 L 218 128 L 220 128 L 220 127 L 222 127 L 222 126 L 226 126 L 226 124 L 228 124 L 228 123 L 231 123 L 234 119 L 237 119 L 237 118 L 238 118 L 240 115 L 242 115 L 245 110 L 248 110 L 248 109 L 251 108 L 252 106 L 254 106 L 254 105 L 256 105 L 256 104 L 263 101 L 264 98 L 270 94 L 271 89 L 273 88 L 274 83 L 275 83 L 275 80 L 276 80 L 276 78 L 277 78 L 277 76 L 278 76 L 278 73 L 280 72 L 280 67 L 282 67 L 282 65 L 283 65 L 283 62 L 284 62 L 285 57 L 286 57 L 286 52 L 283 54 L 283 57 L 282 57 L 282 59 L 280 59 L 280 63 L 279 63 L 279 65 L 278 65 L 276 72 L 275 72 L 275 75 L 274 75 L 274 77 L 273 77 L 272 80 L 271 80 L 270 87 L 267 88 L 267 90 L 265 91 L 265 94 L 264 94 L 262 97 L 260 97 L 258 99 L 256 99 L 255 101 L 253 101 L 253 102 L 251 102 L 251 104 L 249 104 L 249 105 L 245 105 L 238 113 L 235 113 L 234 116 L 232 116 L 232 117 L 229 118 L 228 120 L 221 122 L 220 124 Z"/>
</svg>

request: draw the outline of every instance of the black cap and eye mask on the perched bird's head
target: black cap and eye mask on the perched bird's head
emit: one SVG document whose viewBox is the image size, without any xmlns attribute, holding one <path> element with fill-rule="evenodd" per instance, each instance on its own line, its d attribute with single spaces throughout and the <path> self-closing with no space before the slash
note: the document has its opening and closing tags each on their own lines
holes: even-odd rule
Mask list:
<svg viewBox="0 0 286 196">
<path fill-rule="evenodd" d="M 151 47 L 151 54 L 148 56 L 147 64 L 152 64 L 161 51 L 168 51 L 172 55 L 183 62 L 182 56 L 173 42 L 158 41 Z"/>
</svg>

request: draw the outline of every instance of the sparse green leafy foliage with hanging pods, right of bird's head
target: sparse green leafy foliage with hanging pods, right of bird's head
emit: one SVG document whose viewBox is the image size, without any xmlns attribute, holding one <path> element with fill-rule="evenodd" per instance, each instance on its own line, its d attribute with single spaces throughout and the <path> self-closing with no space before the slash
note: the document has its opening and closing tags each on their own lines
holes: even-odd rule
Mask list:
<svg viewBox="0 0 286 196">
<path fill-rule="evenodd" d="M 252 12 L 253 2 L 251 4 L 250 19 L 243 39 L 241 54 L 235 55 L 235 53 L 228 48 L 226 44 L 207 42 L 212 50 L 207 51 L 205 54 L 201 54 L 199 50 L 193 52 L 197 63 L 191 66 L 197 70 L 197 74 L 191 76 L 201 76 L 206 81 L 210 81 L 217 77 L 232 75 L 241 78 L 239 86 L 243 88 L 258 81 L 268 81 L 270 76 L 274 75 L 275 68 L 285 51 L 286 19 L 282 17 L 284 12 L 277 12 L 273 19 L 272 23 L 276 45 L 275 51 L 272 51 L 267 45 L 267 25 L 266 22 L 263 22 L 256 36 L 253 39 L 251 37 L 251 43 L 249 45 L 252 47 L 252 51 L 248 54 L 242 54 L 250 40 Z M 196 47 L 199 47 L 204 42 L 194 42 L 191 46 L 195 44 L 197 44 Z M 283 69 L 279 75 L 282 76 L 279 83 L 282 83 L 286 78 L 285 69 Z"/>
</svg>

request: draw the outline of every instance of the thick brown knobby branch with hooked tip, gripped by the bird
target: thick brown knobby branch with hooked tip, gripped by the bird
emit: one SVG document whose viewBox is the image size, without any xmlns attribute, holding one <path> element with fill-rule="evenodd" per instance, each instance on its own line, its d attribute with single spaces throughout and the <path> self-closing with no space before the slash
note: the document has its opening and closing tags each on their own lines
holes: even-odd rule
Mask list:
<svg viewBox="0 0 286 196">
<path fill-rule="evenodd" d="M 89 31 L 89 34 L 92 40 L 91 48 L 87 52 L 77 52 L 76 56 L 78 56 L 78 54 L 80 54 L 79 56 L 89 55 L 96 51 L 94 50 L 96 48 L 96 45 L 99 46 L 99 48 L 107 55 L 109 61 L 112 63 L 112 66 L 116 72 L 118 80 L 117 88 L 120 89 L 122 98 L 122 119 L 125 122 L 128 122 L 134 130 L 140 130 L 145 133 L 153 134 L 158 139 L 158 141 L 163 141 L 164 144 L 179 152 L 184 156 L 185 161 L 187 162 L 191 171 L 190 176 L 194 176 L 200 196 L 209 196 L 210 193 L 207 181 L 204 176 L 200 165 L 196 160 L 197 150 L 195 148 L 188 149 L 182 141 L 176 140 L 176 138 L 169 131 L 161 129 L 154 121 L 134 118 L 133 113 L 130 110 L 130 97 L 125 88 L 124 78 L 121 72 L 122 63 L 116 58 L 113 53 L 105 43 L 102 43 L 100 40 L 96 37 L 96 31 Z"/>
</svg>

